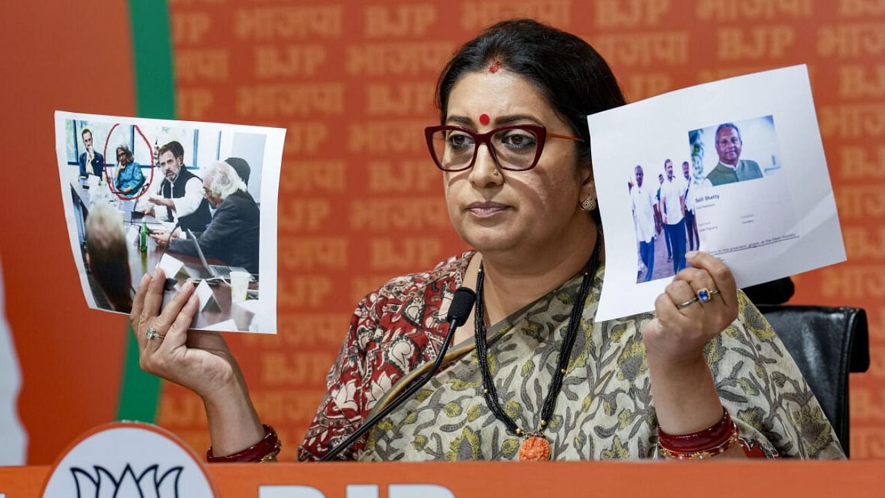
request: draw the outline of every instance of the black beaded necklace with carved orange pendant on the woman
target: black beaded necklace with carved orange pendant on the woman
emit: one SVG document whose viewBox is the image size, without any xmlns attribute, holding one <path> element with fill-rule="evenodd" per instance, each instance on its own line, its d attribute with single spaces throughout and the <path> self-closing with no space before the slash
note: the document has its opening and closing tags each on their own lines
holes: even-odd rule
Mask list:
<svg viewBox="0 0 885 498">
<path fill-rule="evenodd" d="M 535 432 L 527 432 L 519 428 L 519 425 L 507 415 L 501 404 L 498 403 L 495 382 L 492 380 L 491 371 L 489 371 L 489 349 L 486 344 L 486 323 L 485 323 L 485 307 L 482 304 L 482 283 L 484 280 L 482 263 L 476 276 L 476 308 L 474 311 L 473 329 L 476 334 L 476 355 L 480 364 L 482 373 L 482 393 L 485 396 L 486 403 L 489 405 L 491 412 L 498 420 L 504 422 L 507 429 L 519 437 L 524 438 L 522 445 L 519 447 L 519 460 L 549 460 L 550 459 L 550 441 L 546 439 L 543 432 L 547 428 L 550 416 L 553 415 L 553 409 L 556 407 L 556 399 L 559 390 L 562 388 L 562 379 L 566 374 L 568 361 L 572 357 L 572 347 L 575 338 L 578 337 L 578 328 L 581 325 L 581 315 L 584 312 L 584 301 L 587 300 L 587 294 L 590 291 L 590 284 L 596 276 L 596 270 L 599 268 L 599 245 L 602 234 L 596 234 L 596 245 L 593 247 L 593 253 L 590 260 L 584 266 L 584 277 L 581 281 L 581 289 L 578 291 L 577 299 L 572 307 L 572 315 L 569 317 L 568 328 L 566 329 L 566 338 L 563 339 L 562 348 L 559 350 L 557 357 L 556 370 L 553 377 L 550 378 L 550 390 L 544 399 L 543 409 L 541 410 L 541 421 Z"/>
</svg>

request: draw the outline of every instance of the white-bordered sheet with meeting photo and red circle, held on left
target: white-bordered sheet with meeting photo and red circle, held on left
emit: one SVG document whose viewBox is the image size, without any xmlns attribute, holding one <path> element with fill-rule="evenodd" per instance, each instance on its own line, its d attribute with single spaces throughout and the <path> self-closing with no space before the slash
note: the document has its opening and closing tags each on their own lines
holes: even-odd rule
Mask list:
<svg viewBox="0 0 885 498">
<path fill-rule="evenodd" d="M 142 276 L 162 268 L 164 303 L 188 283 L 212 289 L 191 328 L 275 332 L 283 133 L 57 112 L 67 235 L 87 305 L 129 314 Z"/>
</svg>

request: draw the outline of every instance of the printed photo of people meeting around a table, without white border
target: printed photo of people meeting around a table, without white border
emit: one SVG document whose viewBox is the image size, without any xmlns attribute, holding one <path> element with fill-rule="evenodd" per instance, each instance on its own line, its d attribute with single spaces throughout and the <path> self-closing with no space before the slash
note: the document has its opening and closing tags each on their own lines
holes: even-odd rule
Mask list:
<svg viewBox="0 0 885 498">
<path fill-rule="evenodd" d="M 104 133 L 96 132 L 93 136 L 87 123 L 78 124 L 81 130 L 73 126 L 67 134 L 67 164 L 76 168 L 63 168 L 63 172 L 70 171 L 72 218 L 76 226 L 69 230 L 76 230 L 78 235 L 78 253 L 86 272 L 84 292 L 91 295 L 90 302 L 98 308 L 127 313 L 134 297 L 134 284 L 168 255 L 183 263 L 178 275 L 167 276 L 169 292 L 187 280 L 196 284 L 205 279 L 212 286 L 215 304 L 201 311 L 195 327 L 234 320 L 234 330 L 250 330 L 254 324 L 251 312 L 239 309 L 231 301 L 227 275 L 216 272 L 224 267 L 229 267 L 228 271 L 249 272 L 252 282 L 247 299 L 258 299 L 259 195 L 266 137 L 234 132 L 225 132 L 227 136 L 221 132 L 197 136 L 197 130 L 189 135 L 164 128 L 160 130 L 164 134 L 161 136 L 185 138 L 188 144 L 194 144 L 194 149 L 186 149 L 179 139 L 164 143 L 154 138 L 158 144 L 151 147 L 147 137 L 130 143 L 124 139 L 113 148 L 107 144 L 104 150 L 114 151 L 118 167 L 106 168 L 111 178 L 103 177 L 103 183 L 87 184 L 78 179 L 80 156 L 86 154 L 83 157 L 91 165 L 98 160 L 96 155 L 101 154 L 93 150 L 89 160 L 89 149 L 81 152 L 82 147 L 98 149 L 98 137 L 108 136 L 107 130 L 112 128 L 105 123 L 89 123 L 99 129 L 104 125 Z M 72 146 L 77 131 L 82 139 Z M 108 141 L 119 142 L 120 136 L 127 134 L 135 136 L 133 129 L 124 128 Z M 222 151 L 236 151 L 243 157 L 219 160 Z M 142 159 L 136 161 L 136 156 Z M 199 167 L 195 165 L 197 158 Z M 150 160 L 156 165 L 153 175 L 150 167 L 144 166 Z M 137 195 L 122 199 L 109 196 L 111 185 L 120 193 Z"/>
</svg>

